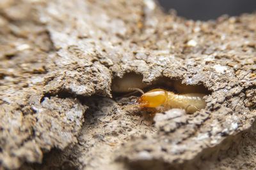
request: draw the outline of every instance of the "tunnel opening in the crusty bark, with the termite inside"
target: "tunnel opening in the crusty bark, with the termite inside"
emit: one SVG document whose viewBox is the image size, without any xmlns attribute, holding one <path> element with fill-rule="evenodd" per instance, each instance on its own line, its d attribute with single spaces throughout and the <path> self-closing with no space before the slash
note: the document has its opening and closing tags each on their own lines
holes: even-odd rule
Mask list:
<svg viewBox="0 0 256 170">
<path fill-rule="evenodd" d="M 203 83 L 185 85 L 180 78 L 166 76 L 147 84 L 143 83 L 142 75 L 127 73 L 122 78 L 113 78 L 112 93 L 117 103 L 138 106 L 145 109 L 145 113 L 148 110 L 149 113 L 157 113 L 171 108 L 195 113 L 206 107 L 204 96 L 211 94 L 211 91 L 204 87 Z"/>
</svg>

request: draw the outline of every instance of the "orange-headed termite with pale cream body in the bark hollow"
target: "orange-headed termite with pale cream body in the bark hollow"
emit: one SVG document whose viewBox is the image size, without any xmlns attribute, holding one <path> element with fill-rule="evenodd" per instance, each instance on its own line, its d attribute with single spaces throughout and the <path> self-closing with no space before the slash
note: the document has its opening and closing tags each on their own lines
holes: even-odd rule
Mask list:
<svg viewBox="0 0 256 170">
<path fill-rule="evenodd" d="M 174 94 L 163 89 L 154 89 L 143 94 L 135 103 L 141 108 L 164 106 L 165 109 L 183 108 L 187 113 L 194 113 L 205 108 L 204 96 L 205 94 L 200 93 Z"/>
</svg>

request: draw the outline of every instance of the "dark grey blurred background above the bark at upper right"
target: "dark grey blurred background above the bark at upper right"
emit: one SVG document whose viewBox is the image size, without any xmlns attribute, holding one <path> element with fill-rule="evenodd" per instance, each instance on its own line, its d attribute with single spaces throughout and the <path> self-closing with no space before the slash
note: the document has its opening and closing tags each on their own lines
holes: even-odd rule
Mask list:
<svg viewBox="0 0 256 170">
<path fill-rule="evenodd" d="M 256 0 L 158 0 L 164 11 L 193 20 L 215 20 L 221 15 L 241 15 L 256 10 Z"/>
</svg>

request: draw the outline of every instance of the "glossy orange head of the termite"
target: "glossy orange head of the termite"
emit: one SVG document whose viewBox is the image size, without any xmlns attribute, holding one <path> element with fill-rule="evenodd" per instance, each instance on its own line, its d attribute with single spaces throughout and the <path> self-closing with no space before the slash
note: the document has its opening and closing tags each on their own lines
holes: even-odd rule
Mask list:
<svg viewBox="0 0 256 170">
<path fill-rule="evenodd" d="M 136 103 L 139 103 L 141 107 L 156 108 L 164 104 L 167 99 L 167 92 L 163 89 L 150 90 L 143 94 Z"/>
</svg>

